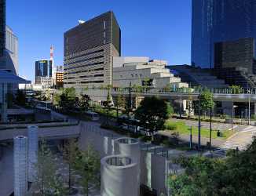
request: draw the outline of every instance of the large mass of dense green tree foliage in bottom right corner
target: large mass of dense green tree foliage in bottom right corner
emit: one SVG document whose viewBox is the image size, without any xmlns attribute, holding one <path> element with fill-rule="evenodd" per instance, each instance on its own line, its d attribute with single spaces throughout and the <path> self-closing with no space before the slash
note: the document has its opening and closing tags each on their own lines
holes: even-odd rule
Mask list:
<svg viewBox="0 0 256 196">
<path fill-rule="evenodd" d="M 247 151 L 232 151 L 227 158 L 192 156 L 176 160 L 185 172 L 171 174 L 172 195 L 256 195 L 256 140 Z"/>
</svg>

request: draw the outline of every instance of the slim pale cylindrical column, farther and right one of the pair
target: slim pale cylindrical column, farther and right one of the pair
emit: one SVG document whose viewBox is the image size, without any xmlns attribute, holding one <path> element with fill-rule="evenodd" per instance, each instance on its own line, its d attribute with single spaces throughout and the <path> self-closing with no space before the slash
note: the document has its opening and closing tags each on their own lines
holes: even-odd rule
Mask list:
<svg viewBox="0 0 256 196">
<path fill-rule="evenodd" d="M 38 126 L 27 126 L 28 135 L 28 181 L 35 182 L 38 162 Z"/>
</svg>

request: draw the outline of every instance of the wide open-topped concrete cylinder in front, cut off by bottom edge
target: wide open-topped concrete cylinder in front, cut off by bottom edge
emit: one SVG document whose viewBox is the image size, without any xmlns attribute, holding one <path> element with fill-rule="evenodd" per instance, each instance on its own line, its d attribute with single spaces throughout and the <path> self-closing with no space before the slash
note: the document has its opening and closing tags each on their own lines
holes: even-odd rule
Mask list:
<svg viewBox="0 0 256 196">
<path fill-rule="evenodd" d="M 138 196 L 137 162 L 122 155 L 101 159 L 101 196 Z"/>
</svg>

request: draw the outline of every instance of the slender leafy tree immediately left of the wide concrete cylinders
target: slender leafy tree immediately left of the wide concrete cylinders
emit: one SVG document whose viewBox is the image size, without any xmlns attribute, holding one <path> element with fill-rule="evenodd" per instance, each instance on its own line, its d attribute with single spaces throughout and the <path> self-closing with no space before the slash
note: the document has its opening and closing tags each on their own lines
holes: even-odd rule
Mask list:
<svg viewBox="0 0 256 196">
<path fill-rule="evenodd" d="M 83 191 L 88 196 L 90 194 L 90 185 L 99 187 L 101 182 L 101 159 L 97 151 L 89 144 L 86 151 L 81 152 L 81 156 L 76 162 L 76 169 L 81 175 L 81 186 Z"/>
</svg>

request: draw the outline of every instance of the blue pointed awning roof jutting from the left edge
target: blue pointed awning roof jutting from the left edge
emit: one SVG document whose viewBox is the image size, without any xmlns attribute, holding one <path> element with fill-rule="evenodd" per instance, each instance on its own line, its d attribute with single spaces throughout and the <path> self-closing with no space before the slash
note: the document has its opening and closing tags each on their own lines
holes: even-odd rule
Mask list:
<svg viewBox="0 0 256 196">
<path fill-rule="evenodd" d="M 8 71 L 0 70 L 0 83 L 8 84 L 31 84 L 31 81 L 20 78 L 19 76 Z"/>
</svg>

